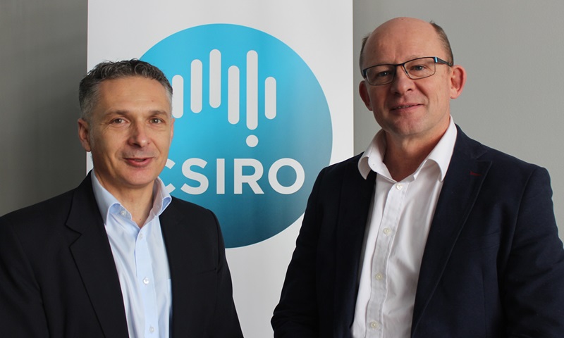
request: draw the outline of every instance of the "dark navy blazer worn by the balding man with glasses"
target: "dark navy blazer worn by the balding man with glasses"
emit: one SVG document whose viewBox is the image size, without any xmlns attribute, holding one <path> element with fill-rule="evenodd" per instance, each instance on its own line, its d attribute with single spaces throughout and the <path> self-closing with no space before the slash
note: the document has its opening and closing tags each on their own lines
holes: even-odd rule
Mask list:
<svg viewBox="0 0 564 338">
<path fill-rule="evenodd" d="M 362 178 L 359 158 L 325 168 L 314 184 L 272 318 L 275 337 L 350 337 L 375 177 Z M 544 168 L 458 130 L 411 337 L 564 337 L 564 250 L 551 196 Z"/>
</svg>

